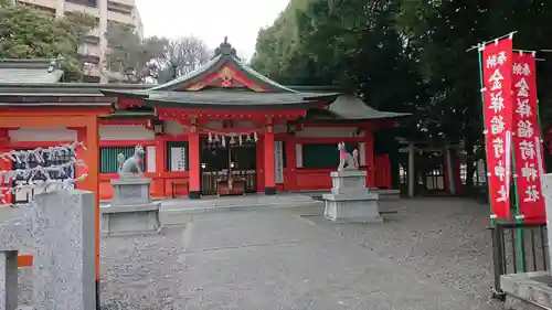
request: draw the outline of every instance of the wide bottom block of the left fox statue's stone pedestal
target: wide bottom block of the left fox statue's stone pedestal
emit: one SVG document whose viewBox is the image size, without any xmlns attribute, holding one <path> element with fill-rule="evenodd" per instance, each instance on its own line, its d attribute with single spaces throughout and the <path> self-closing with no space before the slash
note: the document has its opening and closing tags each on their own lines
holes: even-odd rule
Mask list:
<svg viewBox="0 0 552 310">
<path fill-rule="evenodd" d="M 138 205 L 102 206 L 102 233 L 125 235 L 159 233 L 159 202 Z"/>
</svg>

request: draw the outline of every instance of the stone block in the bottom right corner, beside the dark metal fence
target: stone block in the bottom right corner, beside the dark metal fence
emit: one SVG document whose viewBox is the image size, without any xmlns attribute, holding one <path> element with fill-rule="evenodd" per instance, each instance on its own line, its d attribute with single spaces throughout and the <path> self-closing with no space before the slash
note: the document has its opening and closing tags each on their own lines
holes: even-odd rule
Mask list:
<svg viewBox="0 0 552 310">
<path fill-rule="evenodd" d="M 549 271 L 505 275 L 500 286 L 506 309 L 552 309 L 552 277 Z"/>
</svg>

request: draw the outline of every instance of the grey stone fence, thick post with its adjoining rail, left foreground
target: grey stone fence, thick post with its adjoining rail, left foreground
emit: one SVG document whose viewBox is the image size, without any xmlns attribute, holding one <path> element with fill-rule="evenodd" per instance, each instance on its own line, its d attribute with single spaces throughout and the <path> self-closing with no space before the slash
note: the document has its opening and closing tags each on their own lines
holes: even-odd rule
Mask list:
<svg viewBox="0 0 552 310">
<path fill-rule="evenodd" d="M 18 250 L 33 249 L 32 309 L 95 310 L 95 200 L 62 190 L 0 224 L 0 310 L 18 307 Z"/>
</svg>

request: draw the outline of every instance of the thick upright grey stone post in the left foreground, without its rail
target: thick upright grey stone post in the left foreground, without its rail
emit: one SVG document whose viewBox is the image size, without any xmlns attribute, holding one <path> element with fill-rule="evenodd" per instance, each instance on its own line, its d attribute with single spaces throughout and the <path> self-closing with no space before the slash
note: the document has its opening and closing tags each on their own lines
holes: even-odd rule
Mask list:
<svg viewBox="0 0 552 310">
<path fill-rule="evenodd" d="M 62 190 L 32 205 L 35 310 L 95 310 L 95 197 Z"/>
</svg>

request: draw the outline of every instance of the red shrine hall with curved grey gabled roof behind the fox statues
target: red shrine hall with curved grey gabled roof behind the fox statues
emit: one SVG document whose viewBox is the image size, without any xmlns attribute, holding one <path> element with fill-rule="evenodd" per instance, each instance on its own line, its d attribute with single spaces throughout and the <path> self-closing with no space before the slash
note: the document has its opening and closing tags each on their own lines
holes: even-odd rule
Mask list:
<svg viewBox="0 0 552 310">
<path fill-rule="evenodd" d="M 242 63 L 227 42 L 199 70 L 163 85 L 102 90 L 117 98 L 117 111 L 105 124 L 128 124 L 128 118 L 118 118 L 123 111 L 155 111 L 148 120 L 149 127 L 158 127 L 155 140 L 135 141 L 158 159 L 156 172 L 149 173 L 152 195 L 199 199 L 328 190 L 340 141 L 349 151 L 358 149 L 369 186 L 390 186 L 391 180 L 375 180 L 378 170 L 389 175 L 390 167 L 389 160 L 375 164 L 373 132 L 394 126 L 403 114 L 376 111 L 339 93 L 283 86 Z"/>
</svg>

